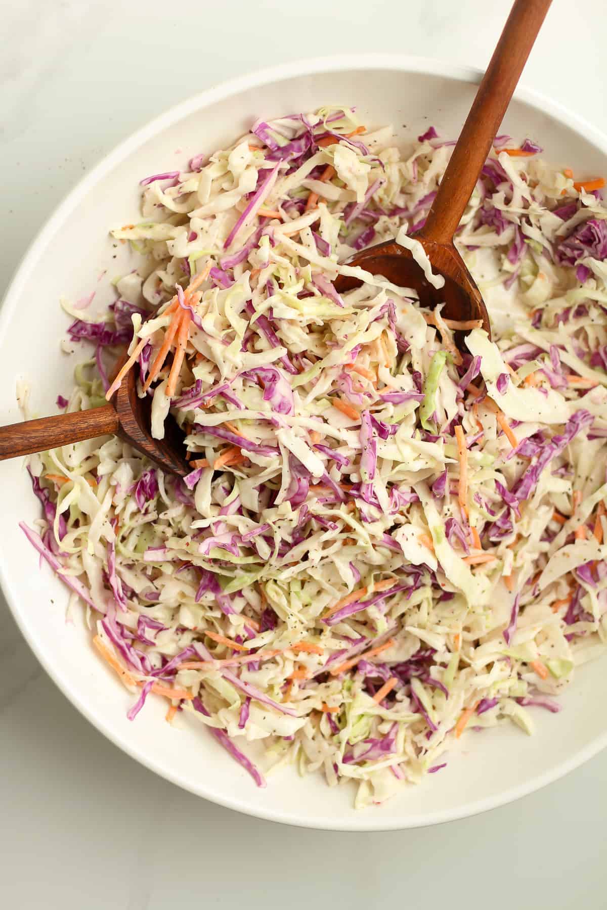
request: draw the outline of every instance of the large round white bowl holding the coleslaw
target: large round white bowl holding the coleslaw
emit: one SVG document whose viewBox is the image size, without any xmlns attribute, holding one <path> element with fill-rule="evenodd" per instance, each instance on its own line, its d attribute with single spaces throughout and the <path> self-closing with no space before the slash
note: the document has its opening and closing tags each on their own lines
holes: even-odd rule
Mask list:
<svg viewBox="0 0 607 910">
<path fill-rule="evenodd" d="M 185 166 L 192 155 L 223 147 L 257 116 L 271 118 L 327 103 L 356 105 L 364 122 L 392 123 L 403 137 L 417 136 L 430 124 L 444 136 L 457 136 L 479 78 L 476 70 L 401 56 L 289 64 L 212 88 L 131 136 L 56 210 L 8 290 L 0 318 L 0 421 L 19 420 L 16 379 L 29 380 L 40 414 L 55 413 L 57 393 L 71 389 L 73 359 L 59 351 L 66 317 L 57 301 L 61 295 L 76 299 L 103 288 L 103 282 L 96 284 L 103 269 L 109 277 L 124 271 L 125 248 L 112 245 L 107 229 L 137 219 L 141 177 Z M 531 136 L 541 142 L 546 157 L 576 173 L 607 171 L 607 138 L 531 92 L 517 93 L 502 131 Z M 134 723 L 126 719 L 132 696 L 93 652 L 83 611 L 76 610 L 73 622 L 66 622 L 66 588 L 46 565 L 38 569 L 34 549 L 17 529 L 18 521 L 40 514 L 21 461 L 3 462 L 0 478 L 0 579 L 25 638 L 91 723 L 137 761 L 194 794 L 288 824 L 348 831 L 407 828 L 508 803 L 607 744 L 607 673 L 599 661 L 578 673 L 562 696 L 560 714 L 536 710 L 535 736 L 511 726 L 470 733 L 453 748 L 444 770 L 380 806 L 357 812 L 349 786 L 329 789 L 319 776 L 300 778 L 292 768 L 271 775 L 268 788 L 258 790 L 198 724 L 182 722 L 174 729 L 164 723 L 166 706 L 160 699 L 148 701 Z"/>
</svg>

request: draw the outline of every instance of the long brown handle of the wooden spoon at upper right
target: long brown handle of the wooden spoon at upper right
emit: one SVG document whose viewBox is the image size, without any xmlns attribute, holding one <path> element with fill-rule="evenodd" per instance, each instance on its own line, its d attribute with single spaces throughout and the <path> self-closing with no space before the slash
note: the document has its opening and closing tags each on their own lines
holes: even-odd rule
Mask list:
<svg viewBox="0 0 607 910">
<path fill-rule="evenodd" d="M 419 237 L 451 242 L 550 5 L 514 0 Z"/>
</svg>

